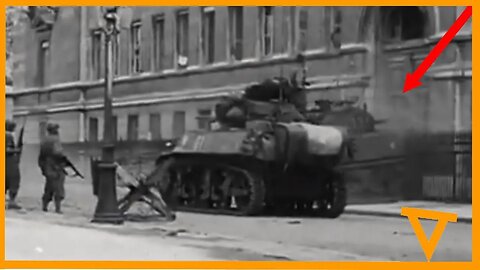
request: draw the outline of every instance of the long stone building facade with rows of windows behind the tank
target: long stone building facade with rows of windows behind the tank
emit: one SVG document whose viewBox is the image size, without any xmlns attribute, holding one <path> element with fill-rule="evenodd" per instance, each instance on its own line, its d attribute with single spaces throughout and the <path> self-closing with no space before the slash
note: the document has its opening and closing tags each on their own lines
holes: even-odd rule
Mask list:
<svg viewBox="0 0 480 270">
<path fill-rule="evenodd" d="M 129 7 L 114 48 L 119 141 L 170 139 L 204 128 L 222 95 L 299 69 L 306 56 L 309 102 L 358 100 L 379 129 L 401 134 L 471 132 L 471 22 L 422 79 L 412 72 L 463 7 Z M 25 141 L 47 120 L 67 143 L 103 134 L 103 20 L 99 7 L 61 7 L 18 27 L 15 117 Z M 43 16 L 43 17 L 42 17 Z M 46 19 L 42 19 L 48 17 Z"/>
</svg>

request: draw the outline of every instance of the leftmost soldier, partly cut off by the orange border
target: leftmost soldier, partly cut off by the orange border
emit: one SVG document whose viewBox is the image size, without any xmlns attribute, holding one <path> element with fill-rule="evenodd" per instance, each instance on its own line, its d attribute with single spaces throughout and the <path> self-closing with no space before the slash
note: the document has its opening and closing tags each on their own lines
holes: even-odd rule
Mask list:
<svg viewBox="0 0 480 270">
<path fill-rule="evenodd" d="M 20 188 L 19 156 L 21 152 L 15 144 L 15 128 L 15 122 L 11 120 L 6 121 L 5 195 L 8 192 L 8 209 L 21 209 L 15 201 Z"/>
</svg>

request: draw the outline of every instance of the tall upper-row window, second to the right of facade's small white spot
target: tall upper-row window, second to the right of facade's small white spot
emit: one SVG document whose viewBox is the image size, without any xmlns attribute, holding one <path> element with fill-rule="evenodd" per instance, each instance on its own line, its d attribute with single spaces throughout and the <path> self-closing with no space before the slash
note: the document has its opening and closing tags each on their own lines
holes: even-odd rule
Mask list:
<svg viewBox="0 0 480 270">
<path fill-rule="evenodd" d="M 243 7 L 228 8 L 229 50 L 232 60 L 243 58 Z"/>
</svg>

